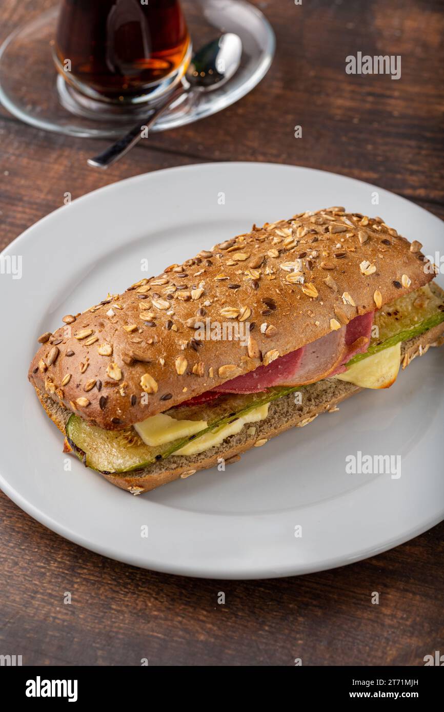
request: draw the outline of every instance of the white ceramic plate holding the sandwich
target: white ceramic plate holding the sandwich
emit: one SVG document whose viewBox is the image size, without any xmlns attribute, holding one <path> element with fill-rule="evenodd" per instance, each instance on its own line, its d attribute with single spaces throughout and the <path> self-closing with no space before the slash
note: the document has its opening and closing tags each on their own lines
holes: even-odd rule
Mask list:
<svg viewBox="0 0 444 712">
<path fill-rule="evenodd" d="M 379 204 L 373 205 L 375 192 Z M 220 204 L 220 194 L 224 204 Z M 396 384 L 361 392 L 304 429 L 133 497 L 80 462 L 64 470 L 62 438 L 26 380 L 36 339 L 61 317 L 123 291 L 202 248 L 304 209 L 346 204 L 379 214 L 426 254 L 443 224 L 405 199 L 299 167 L 221 163 L 168 169 L 86 195 L 27 230 L 4 252 L 23 276 L 1 274 L 0 484 L 33 518 L 98 553 L 201 577 L 256 578 L 344 565 L 413 538 L 444 518 L 442 350 Z M 401 456 L 401 477 L 350 475 L 346 456 Z M 148 538 L 141 527 L 148 525 Z M 300 525 L 302 536 L 295 536 Z"/>
</svg>

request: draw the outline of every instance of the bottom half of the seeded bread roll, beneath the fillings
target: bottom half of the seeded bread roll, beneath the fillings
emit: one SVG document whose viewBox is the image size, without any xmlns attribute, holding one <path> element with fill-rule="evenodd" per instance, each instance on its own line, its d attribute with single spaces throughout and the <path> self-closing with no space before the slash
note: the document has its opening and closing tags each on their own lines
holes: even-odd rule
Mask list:
<svg viewBox="0 0 444 712">
<path fill-rule="evenodd" d="M 415 357 L 423 356 L 430 347 L 444 343 L 444 323 L 435 326 L 401 345 L 401 364 L 405 369 Z M 269 405 L 267 419 L 253 425 L 245 425 L 237 435 L 233 435 L 222 444 L 197 455 L 170 456 L 167 460 L 156 462 L 143 470 L 132 472 L 128 476 L 103 476 L 113 485 L 132 494 L 148 492 L 161 485 L 179 478 L 186 478 L 198 470 L 218 464 L 223 458 L 226 464 L 239 460 L 239 456 L 254 446 L 260 446 L 272 437 L 291 427 L 303 427 L 323 412 L 334 411 L 341 401 L 362 389 L 351 383 L 336 379 L 324 379 L 304 388 L 301 404 L 295 404 L 294 394 L 289 394 L 273 401 Z M 43 408 L 53 422 L 65 434 L 66 423 L 71 411 L 56 404 L 53 399 L 37 389 L 37 395 Z M 252 432 L 254 428 L 254 433 Z"/>
</svg>

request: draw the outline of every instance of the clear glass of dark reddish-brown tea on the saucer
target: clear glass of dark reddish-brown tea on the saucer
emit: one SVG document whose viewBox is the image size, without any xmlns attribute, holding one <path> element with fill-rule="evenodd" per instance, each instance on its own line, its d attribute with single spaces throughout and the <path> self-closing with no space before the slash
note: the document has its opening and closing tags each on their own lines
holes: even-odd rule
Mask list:
<svg viewBox="0 0 444 712">
<path fill-rule="evenodd" d="M 157 99 L 187 69 L 180 0 L 62 0 L 53 56 L 71 90 L 102 105 Z"/>
</svg>

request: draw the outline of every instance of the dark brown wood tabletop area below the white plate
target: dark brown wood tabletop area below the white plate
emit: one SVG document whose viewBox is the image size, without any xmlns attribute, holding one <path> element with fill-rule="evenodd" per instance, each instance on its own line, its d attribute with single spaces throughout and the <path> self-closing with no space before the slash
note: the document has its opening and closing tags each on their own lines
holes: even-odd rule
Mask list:
<svg viewBox="0 0 444 712">
<path fill-rule="evenodd" d="M 341 569 L 228 582 L 113 562 L 0 500 L 0 647 L 24 664 L 421 665 L 442 649 L 443 525 Z"/>
</svg>

